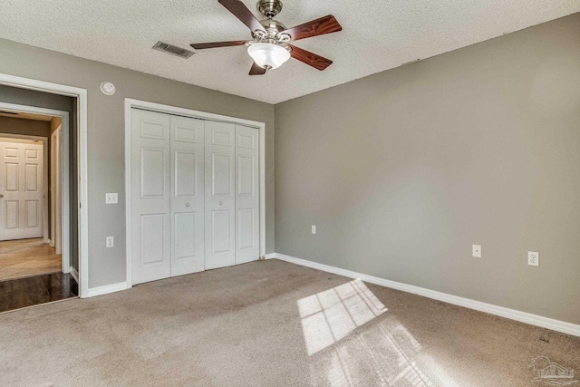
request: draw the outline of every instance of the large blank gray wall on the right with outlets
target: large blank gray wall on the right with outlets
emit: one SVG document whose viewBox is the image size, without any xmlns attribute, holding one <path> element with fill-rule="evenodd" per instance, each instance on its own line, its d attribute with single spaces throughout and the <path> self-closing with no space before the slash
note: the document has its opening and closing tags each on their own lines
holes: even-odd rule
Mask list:
<svg viewBox="0 0 580 387">
<path fill-rule="evenodd" d="M 578 25 L 277 104 L 276 252 L 580 324 Z"/>
</svg>

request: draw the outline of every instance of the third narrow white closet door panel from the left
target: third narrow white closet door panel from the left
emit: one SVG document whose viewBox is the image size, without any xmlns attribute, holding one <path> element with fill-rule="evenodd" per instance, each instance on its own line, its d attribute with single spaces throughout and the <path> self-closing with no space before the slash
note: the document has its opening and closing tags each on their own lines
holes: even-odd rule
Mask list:
<svg viewBox="0 0 580 387">
<path fill-rule="evenodd" d="M 206 121 L 206 269 L 236 264 L 236 125 Z"/>
</svg>

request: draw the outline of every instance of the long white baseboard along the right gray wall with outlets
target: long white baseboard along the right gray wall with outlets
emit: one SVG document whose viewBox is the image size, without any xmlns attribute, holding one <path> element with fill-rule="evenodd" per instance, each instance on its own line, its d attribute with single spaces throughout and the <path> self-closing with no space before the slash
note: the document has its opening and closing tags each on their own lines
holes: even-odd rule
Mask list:
<svg viewBox="0 0 580 387">
<path fill-rule="evenodd" d="M 362 281 L 371 284 L 391 287 L 392 289 L 401 290 L 403 292 L 412 293 L 415 295 L 422 295 L 424 297 L 443 301 L 448 304 L 464 306 L 466 308 L 474 309 L 488 314 L 495 314 L 501 317 L 509 318 L 511 320 L 519 321 L 521 323 L 541 326 L 542 328 L 562 332 L 563 334 L 580 336 L 580 325 L 577 324 L 565 323 L 564 321 L 543 317 L 541 315 L 520 312 L 514 309 L 508 309 L 503 306 L 486 304 L 480 301 L 471 300 L 469 298 L 459 297 L 458 295 L 448 295 L 446 293 L 437 292 L 435 290 L 426 289 L 424 287 L 402 284 L 400 282 L 390 281 L 388 279 L 379 278 L 377 276 L 367 276 L 365 274 L 356 273 L 351 270 L 345 270 L 339 267 L 323 265 L 316 262 L 307 261 L 305 259 L 295 258 L 294 256 L 285 256 L 284 254 L 275 253 L 274 257 L 296 265 L 312 267 L 314 269 L 333 273 L 339 276 L 360 278 Z"/>
</svg>

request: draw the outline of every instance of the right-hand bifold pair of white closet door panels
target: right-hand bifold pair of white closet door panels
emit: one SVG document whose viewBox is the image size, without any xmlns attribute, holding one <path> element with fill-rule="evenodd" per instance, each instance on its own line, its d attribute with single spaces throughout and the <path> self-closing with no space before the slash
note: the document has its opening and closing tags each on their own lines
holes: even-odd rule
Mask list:
<svg viewBox="0 0 580 387">
<path fill-rule="evenodd" d="M 258 131 L 206 121 L 206 269 L 259 258 Z"/>
</svg>

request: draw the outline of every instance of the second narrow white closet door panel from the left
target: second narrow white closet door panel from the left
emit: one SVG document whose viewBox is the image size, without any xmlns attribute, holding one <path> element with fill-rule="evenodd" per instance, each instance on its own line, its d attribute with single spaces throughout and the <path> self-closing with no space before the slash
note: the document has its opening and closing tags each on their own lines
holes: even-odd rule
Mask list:
<svg viewBox="0 0 580 387">
<path fill-rule="evenodd" d="M 171 276 L 204 270 L 205 121 L 171 116 Z"/>
</svg>

